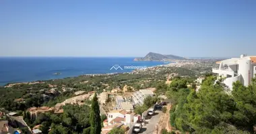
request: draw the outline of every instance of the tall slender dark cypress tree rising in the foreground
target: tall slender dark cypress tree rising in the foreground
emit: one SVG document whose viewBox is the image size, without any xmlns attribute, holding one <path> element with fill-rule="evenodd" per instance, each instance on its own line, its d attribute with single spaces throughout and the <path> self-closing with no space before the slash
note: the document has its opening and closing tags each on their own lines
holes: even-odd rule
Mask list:
<svg viewBox="0 0 256 134">
<path fill-rule="evenodd" d="M 90 111 L 90 124 L 90 134 L 101 133 L 100 107 L 98 105 L 98 98 L 96 93 L 94 94 L 94 98 L 92 99 L 92 106 Z"/>
</svg>

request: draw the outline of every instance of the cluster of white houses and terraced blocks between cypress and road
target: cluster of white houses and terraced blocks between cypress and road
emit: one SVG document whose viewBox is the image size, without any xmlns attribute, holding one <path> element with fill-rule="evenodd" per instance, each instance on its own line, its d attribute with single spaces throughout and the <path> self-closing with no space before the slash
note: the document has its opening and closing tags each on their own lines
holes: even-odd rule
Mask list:
<svg viewBox="0 0 256 134">
<path fill-rule="evenodd" d="M 154 96 L 154 90 L 141 89 L 133 93 L 131 98 L 123 96 L 115 96 L 116 107 L 114 111 L 107 113 L 107 119 L 103 122 L 102 134 L 106 134 L 114 127 L 123 127 L 129 130 L 137 121 L 141 119 L 141 115 L 135 115 L 133 112 L 135 105 L 143 105 L 143 100 L 147 96 Z"/>
</svg>

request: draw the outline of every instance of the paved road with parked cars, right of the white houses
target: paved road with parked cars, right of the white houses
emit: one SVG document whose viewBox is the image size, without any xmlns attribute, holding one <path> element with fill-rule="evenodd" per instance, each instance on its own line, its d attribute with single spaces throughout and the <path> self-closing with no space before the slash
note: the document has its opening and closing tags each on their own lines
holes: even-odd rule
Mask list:
<svg viewBox="0 0 256 134">
<path fill-rule="evenodd" d="M 154 133 L 155 127 L 158 124 L 161 115 L 162 115 L 162 111 L 156 111 L 155 115 L 152 116 L 151 119 L 146 119 L 146 125 L 143 125 L 140 133 L 142 134 Z"/>
</svg>

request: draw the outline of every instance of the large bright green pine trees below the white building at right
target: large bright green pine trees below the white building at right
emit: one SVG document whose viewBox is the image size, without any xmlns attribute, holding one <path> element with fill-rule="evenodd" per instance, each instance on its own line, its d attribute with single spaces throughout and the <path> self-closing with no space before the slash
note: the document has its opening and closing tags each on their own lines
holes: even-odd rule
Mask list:
<svg viewBox="0 0 256 134">
<path fill-rule="evenodd" d="M 233 84 L 228 94 L 221 82 L 208 76 L 199 92 L 187 89 L 184 80 L 175 80 L 168 87 L 174 107 L 170 111 L 170 124 L 189 133 L 253 133 L 256 125 L 256 80 L 245 87 Z"/>
</svg>

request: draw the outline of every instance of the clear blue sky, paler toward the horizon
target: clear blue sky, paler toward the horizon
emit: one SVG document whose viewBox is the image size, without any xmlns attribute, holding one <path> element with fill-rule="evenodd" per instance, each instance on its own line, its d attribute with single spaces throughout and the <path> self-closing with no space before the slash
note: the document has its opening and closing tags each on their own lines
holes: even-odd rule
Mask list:
<svg viewBox="0 0 256 134">
<path fill-rule="evenodd" d="M 255 0 L 1 0 L 0 56 L 256 55 Z"/>
</svg>

